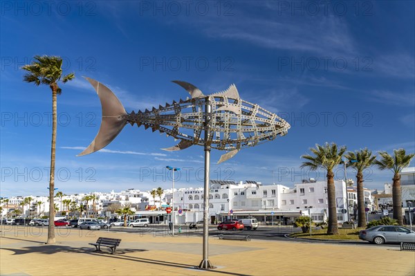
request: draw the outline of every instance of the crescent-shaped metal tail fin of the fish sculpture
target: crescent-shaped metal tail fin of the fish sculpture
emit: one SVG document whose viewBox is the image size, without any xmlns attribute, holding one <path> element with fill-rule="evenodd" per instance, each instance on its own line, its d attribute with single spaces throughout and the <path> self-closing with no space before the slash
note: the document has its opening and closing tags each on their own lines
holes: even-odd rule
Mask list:
<svg viewBox="0 0 415 276">
<path fill-rule="evenodd" d="M 91 142 L 91 145 L 77 156 L 92 154 L 107 146 L 118 136 L 122 128 L 127 124 L 127 119 L 124 117 L 124 115 L 127 115 L 127 111 L 125 111 L 117 96 L 104 84 L 89 77 L 85 77 L 85 79 L 92 84 L 93 88 L 98 93 L 98 97 L 100 97 L 102 120 L 100 130 Z"/>
</svg>

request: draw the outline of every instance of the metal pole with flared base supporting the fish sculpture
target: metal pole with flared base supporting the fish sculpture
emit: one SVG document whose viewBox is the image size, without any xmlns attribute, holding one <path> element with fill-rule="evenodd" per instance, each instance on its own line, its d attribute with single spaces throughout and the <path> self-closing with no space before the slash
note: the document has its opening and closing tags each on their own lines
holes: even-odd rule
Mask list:
<svg viewBox="0 0 415 276">
<path fill-rule="evenodd" d="M 200 269 L 214 268 L 208 259 L 208 242 L 209 242 L 209 182 L 210 182 L 210 113 L 212 107 L 210 106 L 209 98 L 206 98 L 205 103 L 205 187 L 203 199 L 203 259 L 199 264 Z"/>
</svg>

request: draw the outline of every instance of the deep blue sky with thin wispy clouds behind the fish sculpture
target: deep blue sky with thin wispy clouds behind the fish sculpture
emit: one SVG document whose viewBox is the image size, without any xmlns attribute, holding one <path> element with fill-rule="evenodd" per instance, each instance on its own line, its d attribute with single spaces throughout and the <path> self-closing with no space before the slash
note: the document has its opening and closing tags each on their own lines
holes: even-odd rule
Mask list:
<svg viewBox="0 0 415 276">
<path fill-rule="evenodd" d="M 100 126 L 100 102 L 82 76 L 107 84 L 127 111 L 185 99 L 170 82 L 209 94 L 236 84 L 241 98 L 291 124 L 288 135 L 243 149 L 212 179 L 293 185 L 316 143 L 349 150 L 415 150 L 413 1 L 2 1 L 1 196 L 45 195 L 51 93 L 22 82 L 34 55 L 59 55 L 75 80 L 58 97 L 55 187 L 66 194 L 203 185 L 203 147 L 127 126 L 104 151 L 76 157 Z M 399 19 L 399 20 L 398 20 Z M 412 164 L 414 165 L 414 161 Z M 336 178 L 343 178 L 342 168 Z M 365 172 L 382 189 L 390 172 Z M 355 173 L 349 169 L 349 178 Z"/>
</svg>

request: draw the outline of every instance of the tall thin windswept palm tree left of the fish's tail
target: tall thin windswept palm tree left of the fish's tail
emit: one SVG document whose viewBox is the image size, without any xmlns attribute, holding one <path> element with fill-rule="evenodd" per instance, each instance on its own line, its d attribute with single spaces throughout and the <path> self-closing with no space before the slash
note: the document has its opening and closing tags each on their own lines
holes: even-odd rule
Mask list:
<svg viewBox="0 0 415 276">
<path fill-rule="evenodd" d="M 56 149 L 56 127 L 57 127 L 57 95 L 62 93 L 62 89 L 58 86 L 58 82 L 66 83 L 69 80 L 73 80 L 75 74 L 69 73 L 62 76 L 62 57 L 56 56 L 39 56 L 34 57 L 34 61 L 31 64 L 21 67 L 23 70 L 28 71 L 24 75 L 25 82 L 33 82 L 36 86 L 40 84 L 46 84 L 52 90 L 52 142 L 50 149 L 50 180 L 49 180 L 49 210 L 53 210 L 53 192 L 55 191 L 55 149 Z M 48 240 L 46 243 L 55 243 L 55 213 L 49 212 L 49 226 L 48 226 Z"/>
</svg>

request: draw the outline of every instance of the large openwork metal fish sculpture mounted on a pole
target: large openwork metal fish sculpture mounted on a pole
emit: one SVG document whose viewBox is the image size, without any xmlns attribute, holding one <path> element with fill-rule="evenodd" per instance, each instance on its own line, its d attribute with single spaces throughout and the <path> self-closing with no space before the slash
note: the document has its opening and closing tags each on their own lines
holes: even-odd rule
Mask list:
<svg viewBox="0 0 415 276">
<path fill-rule="evenodd" d="M 192 145 L 228 151 L 218 164 L 232 158 L 245 147 L 253 147 L 278 135 L 287 134 L 290 125 L 275 113 L 266 111 L 258 104 L 241 100 L 237 87 L 232 84 L 225 91 L 204 95 L 196 86 L 173 81 L 190 93 L 187 100 L 153 107 L 151 111 L 127 113 L 120 100 L 104 84 L 85 77 L 98 93 L 102 105 L 102 122 L 97 136 L 78 156 L 91 154 L 107 146 L 128 123 L 160 131 L 181 140 L 178 145 L 164 150 L 177 151 Z M 206 104 L 210 105 L 210 118 L 206 120 Z M 208 129 L 208 139 L 204 135 Z M 203 134 L 203 135 L 202 135 Z"/>
</svg>

